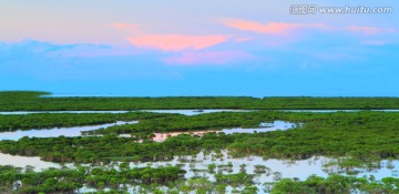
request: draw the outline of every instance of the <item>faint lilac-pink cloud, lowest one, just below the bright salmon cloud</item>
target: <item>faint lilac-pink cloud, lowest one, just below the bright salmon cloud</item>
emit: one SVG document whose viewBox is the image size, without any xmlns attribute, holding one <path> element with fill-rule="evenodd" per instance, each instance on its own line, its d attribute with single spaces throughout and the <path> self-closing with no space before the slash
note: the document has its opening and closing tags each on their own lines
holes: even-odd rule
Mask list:
<svg viewBox="0 0 399 194">
<path fill-rule="evenodd" d="M 252 58 L 239 51 L 184 52 L 178 57 L 166 58 L 165 62 L 171 65 L 226 64 Z"/>
</svg>

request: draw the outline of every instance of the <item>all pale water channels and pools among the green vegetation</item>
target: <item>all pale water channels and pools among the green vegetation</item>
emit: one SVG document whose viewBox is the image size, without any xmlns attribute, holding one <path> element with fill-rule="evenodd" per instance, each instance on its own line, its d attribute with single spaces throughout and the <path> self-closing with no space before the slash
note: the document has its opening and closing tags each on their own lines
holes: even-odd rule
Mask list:
<svg viewBox="0 0 399 194">
<path fill-rule="evenodd" d="M 144 110 L 147 112 L 158 112 L 158 113 L 180 113 L 185 115 L 195 115 L 201 113 L 211 113 L 211 112 L 222 112 L 222 111 L 235 111 L 235 110 Z M 241 111 L 241 110 L 238 110 Z M 356 112 L 359 110 L 287 110 L 293 112 Z M 389 112 L 398 112 L 399 110 L 372 110 L 372 111 L 389 111 Z M 101 113 L 124 113 L 127 111 L 100 111 Z M 49 113 L 100 113 L 99 111 L 54 111 Z M 0 112 L 0 114 L 29 114 L 29 113 L 43 113 L 43 112 Z M 100 127 L 109 127 L 113 125 L 121 124 L 134 124 L 136 121 L 132 122 L 115 122 L 111 124 L 101 124 L 101 125 L 92 125 L 92 126 L 75 126 L 75 127 L 61 127 L 61 129 L 43 129 L 43 130 L 29 130 L 29 131 L 17 131 L 17 132 L 3 132 L 0 133 L 0 140 L 19 140 L 22 136 L 37 136 L 37 137 L 55 137 L 60 135 L 64 136 L 80 136 L 82 131 L 91 131 L 98 130 Z M 260 127 L 256 129 L 223 129 L 221 131 L 212 131 L 212 132 L 224 132 L 226 134 L 232 133 L 255 133 L 255 132 L 268 132 L 276 130 L 288 130 L 294 129 L 296 126 L 300 126 L 300 124 L 289 123 L 285 121 L 274 121 L 273 123 L 260 123 Z M 211 131 L 197 131 L 191 132 L 190 134 L 202 135 L 206 132 Z M 164 141 L 168 136 L 178 135 L 182 132 L 172 132 L 172 133 L 155 133 L 154 141 Z M 282 177 L 298 177 L 299 180 L 306 180 L 309 175 L 318 175 L 318 176 L 328 176 L 329 173 L 346 173 L 342 172 L 339 166 L 329 166 L 325 165 L 335 159 L 324 157 L 324 156 L 314 156 L 308 160 L 298 160 L 298 161 L 288 161 L 288 160 L 264 160 L 260 156 L 246 156 L 242 159 L 233 159 L 227 154 L 226 151 L 222 151 L 222 156 L 216 156 L 216 153 L 204 154 L 203 152 L 194 155 L 194 156 L 176 156 L 171 162 L 152 162 L 152 163 L 131 163 L 131 167 L 143 167 L 147 165 L 152 166 L 161 166 L 161 165 L 176 165 L 181 164 L 182 169 L 187 171 L 185 177 L 206 177 L 209 181 L 215 181 L 215 176 L 213 173 L 207 171 L 207 166 L 209 164 L 216 164 L 218 167 L 215 170 L 215 173 L 218 171 L 224 174 L 238 173 L 241 171 L 241 165 L 245 164 L 245 171 L 248 174 L 255 173 L 255 165 L 264 165 L 268 167 L 268 172 L 264 174 L 258 174 L 255 176 L 255 185 L 259 188 L 259 193 L 263 193 L 264 185 L 262 183 L 265 182 L 274 182 Z M 222 167 L 221 165 L 232 164 L 233 167 L 227 170 Z M 357 176 L 364 175 L 374 175 L 377 180 L 381 180 L 387 176 L 398 176 L 398 161 L 381 161 L 381 169 L 374 169 L 372 171 L 367 171 L 362 169 L 356 169 L 358 171 Z M 27 156 L 17 156 L 0 153 L 0 165 L 13 165 L 17 167 L 25 167 L 27 165 L 31 165 L 35 171 L 41 171 L 48 167 L 61 167 L 60 164 L 44 162 L 39 157 L 27 157 Z M 70 164 L 72 166 L 72 164 Z"/>
</svg>

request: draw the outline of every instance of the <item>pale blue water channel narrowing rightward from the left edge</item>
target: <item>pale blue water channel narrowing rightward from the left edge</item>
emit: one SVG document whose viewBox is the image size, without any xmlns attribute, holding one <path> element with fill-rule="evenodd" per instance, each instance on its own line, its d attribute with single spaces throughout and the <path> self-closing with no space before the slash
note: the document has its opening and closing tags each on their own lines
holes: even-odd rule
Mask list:
<svg viewBox="0 0 399 194">
<path fill-rule="evenodd" d="M 0 141 L 2 140 L 19 140 L 23 136 L 29 137 L 58 137 L 60 135 L 64 136 L 81 136 L 82 131 L 92 131 L 92 130 L 99 130 L 101 127 L 105 129 L 109 126 L 114 125 L 122 125 L 122 124 L 135 124 L 137 121 L 117 121 L 115 123 L 109 123 L 109 124 L 100 124 L 100 125 L 91 125 L 91 126 L 73 126 L 73 127 L 53 127 L 53 129 L 33 129 L 33 130 L 27 130 L 27 131 L 14 131 L 14 132 L 2 132 L 0 133 Z"/>
</svg>

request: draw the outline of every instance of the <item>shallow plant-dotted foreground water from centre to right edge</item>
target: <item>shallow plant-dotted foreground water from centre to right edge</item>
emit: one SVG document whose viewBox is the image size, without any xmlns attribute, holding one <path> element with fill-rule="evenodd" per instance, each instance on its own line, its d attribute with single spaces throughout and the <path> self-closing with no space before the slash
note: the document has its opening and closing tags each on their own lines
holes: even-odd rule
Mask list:
<svg viewBox="0 0 399 194">
<path fill-rule="evenodd" d="M 217 156 L 218 155 L 218 156 Z M 331 173 L 338 173 L 346 175 L 346 172 L 340 171 L 341 167 L 334 165 L 326 167 L 325 165 L 336 161 L 336 159 L 325 157 L 325 156 L 313 156 L 307 160 L 276 160 L 269 159 L 265 160 L 260 156 L 245 156 L 234 159 L 228 155 L 227 151 L 221 151 L 219 154 L 211 153 L 204 154 L 200 152 L 196 155 L 186 155 L 186 156 L 175 156 L 173 161 L 170 162 L 147 162 L 147 163 L 130 163 L 130 167 L 145 167 L 145 166 L 167 166 L 167 165 L 181 165 L 183 170 L 187 173 L 185 178 L 191 177 L 206 177 L 207 180 L 214 182 L 216 181 L 215 174 L 222 172 L 223 174 L 233 174 L 241 172 L 241 165 L 245 164 L 245 172 L 248 174 L 255 174 L 254 182 L 255 186 L 259 188 L 259 193 L 265 193 L 263 188 L 265 187 L 263 183 L 265 182 L 275 182 L 279 178 L 294 178 L 297 177 L 301 181 L 306 180 L 310 175 L 317 175 L 321 177 L 327 177 Z M 223 167 L 222 165 L 227 166 L 227 164 L 233 164 L 229 167 Z M 214 173 L 208 172 L 208 165 L 216 164 Z M 266 173 L 259 173 L 256 175 L 255 166 L 264 165 L 267 167 Z M 387 176 L 398 176 L 398 166 L 399 161 L 387 161 L 383 160 L 380 162 L 380 169 L 374 169 L 368 171 L 365 169 L 358 169 L 359 173 L 356 174 L 358 177 L 374 175 L 376 180 L 381 180 Z M 117 169 L 117 166 L 116 166 Z M 232 190 L 232 188 L 227 188 Z M 227 192 L 228 193 L 228 192 Z"/>
</svg>

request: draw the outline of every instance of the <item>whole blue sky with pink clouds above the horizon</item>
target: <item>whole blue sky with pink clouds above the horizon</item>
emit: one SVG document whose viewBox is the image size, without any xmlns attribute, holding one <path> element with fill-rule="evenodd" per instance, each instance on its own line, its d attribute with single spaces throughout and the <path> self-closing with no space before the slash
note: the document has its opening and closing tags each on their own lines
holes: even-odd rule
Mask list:
<svg viewBox="0 0 399 194">
<path fill-rule="evenodd" d="M 340 8 L 349 12 L 323 12 Z M 397 0 L 3 0 L 0 91 L 399 96 L 398 9 Z"/>
</svg>

